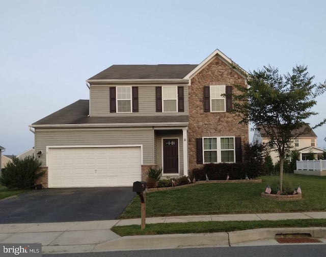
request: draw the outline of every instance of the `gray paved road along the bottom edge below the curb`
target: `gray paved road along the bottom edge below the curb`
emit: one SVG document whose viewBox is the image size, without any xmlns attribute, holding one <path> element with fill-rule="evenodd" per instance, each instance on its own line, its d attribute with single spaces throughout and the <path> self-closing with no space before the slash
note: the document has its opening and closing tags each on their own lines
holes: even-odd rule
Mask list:
<svg viewBox="0 0 326 257">
<path fill-rule="evenodd" d="M 282 246 L 246 246 L 246 247 L 217 247 L 217 248 L 187 248 L 164 250 L 139 250 L 118 252 L 89 252 L 89 253 L 63 253 L 43 254 L 43 257 L 324 257 L 326 245 L 282 245 Z"/>
</svg>

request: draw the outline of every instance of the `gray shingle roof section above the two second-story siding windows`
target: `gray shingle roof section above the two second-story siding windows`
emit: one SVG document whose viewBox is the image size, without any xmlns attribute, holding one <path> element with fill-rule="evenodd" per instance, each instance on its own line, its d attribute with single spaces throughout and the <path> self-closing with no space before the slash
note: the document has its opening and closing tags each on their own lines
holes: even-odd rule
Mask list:
<svg viewBox="0 0 326 257">
<path fill-rule="evenodd" d="M 89 80 L 182 79 L 195 64 L 112 65 Z"/>
</svg>

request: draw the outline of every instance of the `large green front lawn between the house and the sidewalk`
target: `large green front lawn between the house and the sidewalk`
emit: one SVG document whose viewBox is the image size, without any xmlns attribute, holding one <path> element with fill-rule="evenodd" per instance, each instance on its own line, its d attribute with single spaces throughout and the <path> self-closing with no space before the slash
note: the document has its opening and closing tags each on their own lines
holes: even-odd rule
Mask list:
<svg viewBox="0 0 326 257">
<path fill-rule="evenodd" d="M 326 211 L 326 177 L 284 175 L 293 188 L 301 186 L 299 201 L 275 201 L 260 196 L 278 177 L 260 177 L 262 183 L 199 184 L 192 187 L 146 194 L 146 217 L 239 213 L 285 213 Z M 273 188 L 272 188 L 273 189 Z M 141 217 L 135 197 L 120 219 Z"/>
</svg>

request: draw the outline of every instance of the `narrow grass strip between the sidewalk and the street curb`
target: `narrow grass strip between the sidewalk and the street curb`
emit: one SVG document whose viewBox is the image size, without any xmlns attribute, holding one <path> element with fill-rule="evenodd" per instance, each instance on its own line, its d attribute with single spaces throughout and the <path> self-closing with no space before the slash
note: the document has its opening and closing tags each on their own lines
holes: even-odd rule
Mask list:
<svg viewBox="0 0 326 257">
<path fill-rule="evenodd" d="M 141 230 L 140 225 L 114 226 L 111 230 L 119 236 L 166 235 L 192 233 L 219 233 L 256 228 L 273 227 L 325 227 L 326 219 L 304 220 L 257 220 L 257 221 L 205 221 L 186 223 L 146 224 Z"/>
</svg>

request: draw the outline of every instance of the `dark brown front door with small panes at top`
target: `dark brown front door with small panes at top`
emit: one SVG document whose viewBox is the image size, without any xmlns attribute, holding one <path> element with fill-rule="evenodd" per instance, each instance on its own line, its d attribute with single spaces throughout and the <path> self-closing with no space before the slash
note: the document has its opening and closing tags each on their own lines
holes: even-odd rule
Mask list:
<svg viewBox="0 0 326 257">
<path fill-rule="evenodd" d="M 179 173 L 178 139 L 163 139 L 163 151 L 163 173 Z"/>
</svg>

